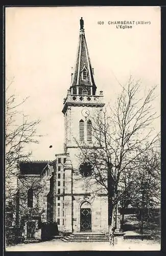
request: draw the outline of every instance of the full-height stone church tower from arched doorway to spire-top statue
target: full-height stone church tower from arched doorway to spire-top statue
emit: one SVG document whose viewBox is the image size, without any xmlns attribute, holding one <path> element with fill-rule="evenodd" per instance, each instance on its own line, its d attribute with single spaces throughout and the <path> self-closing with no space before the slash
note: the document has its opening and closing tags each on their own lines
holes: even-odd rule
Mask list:
<svg viewBox="0 0 166 256">
<path fill-rule="evenodd" d="M 101 115 L 103 92 L 97 94 L 93 69 L 87 49 L 84 21 L 80 19 L 79 45 L 75 70 L 67 96 L 63 102 L 65 142 L 64 155 L 64 228 L 65 232 L 107 232 L 108 197 L 107 191 L 99 184 L 88 183 L 92 166 L 82 163 L 80 146 L 93 148 L 93 127 L 95 116 Z M 94 191 L 96 195 L 94 196 Z"/>
</svg>

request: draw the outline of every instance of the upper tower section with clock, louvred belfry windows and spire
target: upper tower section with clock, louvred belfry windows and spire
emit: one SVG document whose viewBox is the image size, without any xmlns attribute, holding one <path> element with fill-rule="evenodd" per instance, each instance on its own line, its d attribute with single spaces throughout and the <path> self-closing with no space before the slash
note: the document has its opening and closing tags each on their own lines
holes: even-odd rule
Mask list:
<svg viewBox="0 0 166 256">
<path fill-rule="evenodd" d="M 100 114 L 105 105 L 103 92 L 100 91 L 97 95 L 93 76 L 85 39 L 84 21 L 81 18 L 75 70 L 62 110 L 65 122 L 65 153 L 74 154 L 78 147 L 77 142 L 88 147 L 92 146 L 93 117 Z"/>
</svg>

